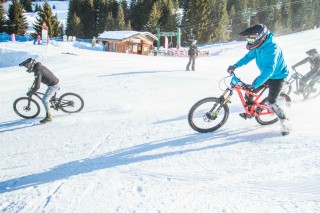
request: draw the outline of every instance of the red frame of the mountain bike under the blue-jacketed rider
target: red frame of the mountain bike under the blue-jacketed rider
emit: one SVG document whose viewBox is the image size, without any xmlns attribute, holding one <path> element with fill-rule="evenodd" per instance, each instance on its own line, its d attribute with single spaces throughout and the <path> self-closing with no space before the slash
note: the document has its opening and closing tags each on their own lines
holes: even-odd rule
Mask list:
<svg viewBox="0 0 320 213">
<path fill-rule="evenodd" d="M 260 103 L 260 98 L 262 96 L 262 94 L 267 90 L 267 86 L 264 86 L 262 88 L 262 90 L 260 90 L 258 93 L 253 93 L 249 90 L 246 90 L 244 88 L 244 86 L 246 85 L 245 83 L 243 83 L 239 78 L 237 78 L 235 75 L 232 76 L 232 80 L 231 80 L 231 88 L 227 88 L 224 93 L 220 96 L 220 98 L 222 100 L 224 100 L 223 102 L 223 105 L 227 104 L 229 101 L 230 101 L 230 98 L 231 96 L 233 95 L 234 93 L 234 90 L 237 92 L 240 100 L 241 100 L 241 103 L 242 103 L 242 106 L 245 110 L 245 112 L 248 114 L 248 115 L 251 115 L 251 116 L 261 116 L 261 115 L 269 115 L 269 114 L 274 114 L 273 110 L 266 106 L 266 105 L 263 105 Z M 244 95 L 243 95 L 243 92 L 245 95 L 251 95 L 253 96 L 253 104 L 250 106 L 250 109 L 249 107 L 246 105 L 246 101 L 245 101 L 245 98 L 244 98 Z M 261 110 L 256 110 L 257 108 L 261 109 Z M 262 112 L 263 110 L 262 109 L 265 109 L 267 110 L 267 112 Z"/>
</svg>

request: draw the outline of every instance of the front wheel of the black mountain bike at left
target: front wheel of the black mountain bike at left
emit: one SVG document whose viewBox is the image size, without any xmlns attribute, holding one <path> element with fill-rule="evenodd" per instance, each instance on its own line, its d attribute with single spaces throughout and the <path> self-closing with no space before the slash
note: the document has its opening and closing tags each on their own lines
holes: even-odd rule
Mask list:
<svg viewBox="0 0 320 213">
<path fill-rule="evenodd" d="M 17 115 L 22 118 L 35 118 L 40 114 L 40 106 L 39 104 L 31 99 L 29 104 L 28 97 L 21 97 L 14 101 L 13 103 L 13 110 Z"/>
</svg>

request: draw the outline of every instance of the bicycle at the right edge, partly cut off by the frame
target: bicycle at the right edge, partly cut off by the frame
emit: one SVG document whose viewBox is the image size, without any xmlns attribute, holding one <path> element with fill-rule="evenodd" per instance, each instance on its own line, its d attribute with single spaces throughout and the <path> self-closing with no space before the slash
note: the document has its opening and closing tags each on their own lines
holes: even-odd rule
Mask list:
<svg viewBox="0 0 320 213">
<path fill-rule="evenodd" d="M 302 94 L 304 99 L 315 98 L 320 95 L 320 77 L 311 78 L 309 82 L 306 83 L 305 87 L 301 91 L 300 81 L 303 77 L 302 74 L 293 69 L 294 73 L 290 76 L 288 80 L 284 82 L 282 87 L 282 92 L 286 95 L 290 95 L 295 86 L 294 93 L 297 95 Z"/>
</svg>

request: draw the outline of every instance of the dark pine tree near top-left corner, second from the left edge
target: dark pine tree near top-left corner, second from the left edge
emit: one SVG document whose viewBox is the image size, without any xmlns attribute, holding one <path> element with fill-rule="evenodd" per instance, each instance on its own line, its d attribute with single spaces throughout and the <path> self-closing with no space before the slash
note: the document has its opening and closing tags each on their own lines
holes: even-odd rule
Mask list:
<svg viewBox="0 0 320 213">
<path fill-rule="evenodd" d="M 23 15 L 23 7 L 17 0 L 13 0 L 10 5 L 8 17 L 7 32 L 9 34 L 14 33 L 17 35 L 24 35 L 26 33 L 28 23 L 26 17 Z"/>
</svg>

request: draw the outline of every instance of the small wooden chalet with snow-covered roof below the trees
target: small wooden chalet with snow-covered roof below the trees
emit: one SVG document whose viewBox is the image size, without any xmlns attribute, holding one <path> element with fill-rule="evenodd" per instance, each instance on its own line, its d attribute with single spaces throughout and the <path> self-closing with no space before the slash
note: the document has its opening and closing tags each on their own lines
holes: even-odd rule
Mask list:
<svg viewBox="0 0 320 213">
<path fill-rule="evenodd" d="M 106 51 L 141 55 L 148 55 L 156 40 L 149 32 L 137 31 L 105 31 L 97 38 Z"/>
</svg>

